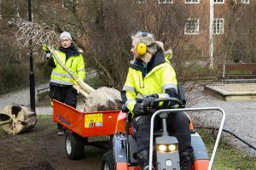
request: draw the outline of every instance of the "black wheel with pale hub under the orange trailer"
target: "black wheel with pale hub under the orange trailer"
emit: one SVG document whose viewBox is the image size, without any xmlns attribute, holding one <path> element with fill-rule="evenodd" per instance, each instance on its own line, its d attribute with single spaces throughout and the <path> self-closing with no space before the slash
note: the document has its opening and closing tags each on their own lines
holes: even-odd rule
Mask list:
<svg viewBox="0 0 256 170">
<path fill-rule="evenodd" d="M 81 159 L 84 155 L 83 138 L 77 133 L 68 132 L 65 140 L 65 148 L 69 159 Z"/>
</svg>

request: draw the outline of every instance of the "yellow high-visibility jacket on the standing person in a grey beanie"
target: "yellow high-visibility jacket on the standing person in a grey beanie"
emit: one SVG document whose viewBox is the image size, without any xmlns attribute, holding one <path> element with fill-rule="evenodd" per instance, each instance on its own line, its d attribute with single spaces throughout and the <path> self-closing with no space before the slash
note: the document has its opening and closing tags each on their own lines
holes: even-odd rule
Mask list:
<svg viewBox="0 0 256 170">
<path fill-rule="evenodd" d="M 85 70 L 84 70 L 84 59 L 81 54 L 77 51 L 73 53 L 68 59 L 66 59 L 66 54 L 61 50 L 55 51 L 61 62 L 67 66 L 67 69 L 73 72 L 74 75 L 79 77 L 79 79 L 84 80 Z M 53 68 L 50 76 L 50 84 L 61 84 L 61 85 L 73 85 L 73 79 L 63 70 L 61 65 L 57 63 L 54 59 L 55 67 Z"/>
</svg>

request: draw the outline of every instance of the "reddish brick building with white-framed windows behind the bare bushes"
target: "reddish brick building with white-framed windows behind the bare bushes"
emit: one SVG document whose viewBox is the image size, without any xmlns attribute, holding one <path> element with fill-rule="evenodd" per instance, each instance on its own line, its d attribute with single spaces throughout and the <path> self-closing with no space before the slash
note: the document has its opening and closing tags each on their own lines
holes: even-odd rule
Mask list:
<svg viewBox="0 0 256 170">
<path fill-rule="evenodd" d="M 209 16 L 210 0 L 158 0 L 158 3 L 172 5 L 173 3 L 183 3 L 189 11 L 190 17 L 184 26 L 184 34 L 191 37 L 188 48 L 197 48 L 201 57 L 207 56 L 209 44 Z M 255 3 L 250 0 L 213 0 L 214 20 L 213 20 L 213 42 L 214 47 L 224 37 L 225 30 L 228 29 L 230 8 L 240 5 L 241 10 Z"/>
</svg>

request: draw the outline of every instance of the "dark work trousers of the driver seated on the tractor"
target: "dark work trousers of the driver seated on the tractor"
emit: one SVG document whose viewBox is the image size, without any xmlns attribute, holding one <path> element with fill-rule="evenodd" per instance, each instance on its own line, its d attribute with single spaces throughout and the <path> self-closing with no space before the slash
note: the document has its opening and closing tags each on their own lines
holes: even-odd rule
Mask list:
<svg viewBox="0 0 256 170">
<path fill-rule="evenodd" d="M 151 116 L 137 116 L 133 118 L 133 128 L 136 132 L 137 152 L 143 150 L 149 151 L 149 137 L 150 137 L 150 119 Z M 160 117 L 156 117 L 154 122 L 154 130 L 161 128 Z M 169 135 L 175 136 L 178 141 L 179 153 L 184 151 L 193 151 L 191 146 L 191 137 L 189 131 L 189 117 L 182 111 L 173 112 L 167 118 L 167 131 Z"/>
</svg>

